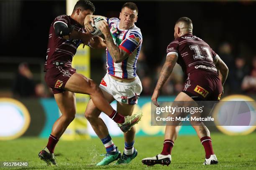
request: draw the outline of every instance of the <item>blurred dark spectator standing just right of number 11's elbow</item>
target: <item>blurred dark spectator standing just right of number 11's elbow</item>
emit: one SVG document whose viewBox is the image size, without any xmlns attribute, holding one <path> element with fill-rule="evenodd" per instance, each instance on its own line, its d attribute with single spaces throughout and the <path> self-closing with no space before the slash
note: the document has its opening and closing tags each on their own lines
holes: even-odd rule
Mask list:
<svg viewBox="0 0 256 170">
<path fill-rule="evenodd" d="M 243 81 L 243 78 L 248 75 L 249 68 L 246 65 L 246 60 L 242 57 L 238 57 L 235 60 L 235 70 L 234 70 L 234 81 L 233 84 L 230 85 L 230 89 L 233 93 L 241 93 L 241 84 Z"/>
</svg>

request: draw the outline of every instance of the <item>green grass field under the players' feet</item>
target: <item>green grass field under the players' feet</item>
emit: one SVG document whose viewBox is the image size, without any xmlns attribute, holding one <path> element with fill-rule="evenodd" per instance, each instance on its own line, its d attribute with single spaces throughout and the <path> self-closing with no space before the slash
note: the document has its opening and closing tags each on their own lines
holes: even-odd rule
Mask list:
<svg viewBox="0 0 256 170">
<path fill-rule="evenodd" d="M 147 167 L 141 159 L 159 154 L 163 146 L 163 137 L 136 137 L 135 148 L 138 156 L 129 165 L 108 165 L 96 167 L 105 153 L 98 138 L 79 141 L 60 141 L 55 148 L 58 167 L 47 166 L 37 156 L 46 145 L 47 139 L 20 138 L 18 140 L 0 141 L 1 161 L 26 161 L 28 167 L 23 169 L 256 169 L 256 133 L 246 136 L 227 136 L 220 133 L 211 135 L 218 165 L 202 165 L 204 149 L 197 136 L 179 136 L 172 150 L 172 163 L 169 167 L 154 165 Z M 119 150 L 123 152 L 123 138 L 113 138 Z M 3 167 L 2 167 L 3 168 Z M 18 168 L 5 168 L 18 169 Z M 21 168 L 20 168 L 21 169 Z"/>
</svg>

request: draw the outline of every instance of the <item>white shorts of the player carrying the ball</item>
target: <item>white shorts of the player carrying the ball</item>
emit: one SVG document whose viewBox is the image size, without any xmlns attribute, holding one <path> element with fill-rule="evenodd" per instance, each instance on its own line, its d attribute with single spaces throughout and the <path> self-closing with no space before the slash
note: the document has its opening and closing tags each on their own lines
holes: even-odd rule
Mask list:
<svg viewBox="0 0 256 170">
<path fill-rule="evenodd" d="M 141 80 L 138 76 L 133 82 L 119 82 L 108 73 L 102 78 L 100 88 L 105 90 L 118 102 L 135 105 L 142 91 Z"/>
</svg>

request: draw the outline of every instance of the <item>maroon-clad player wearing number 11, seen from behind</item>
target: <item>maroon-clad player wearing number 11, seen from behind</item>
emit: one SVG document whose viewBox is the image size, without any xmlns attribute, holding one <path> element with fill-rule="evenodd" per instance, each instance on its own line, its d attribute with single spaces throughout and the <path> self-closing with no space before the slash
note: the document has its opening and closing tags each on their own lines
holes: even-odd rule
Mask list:
<svg viewBox="0 0 256 170">
<path fill-rule="evenodd" d="M 174 28 L 174 38 L 167 47 L 167 56 L 156 84 L 152 102 L 159 107 L 157 98 L 164 83 L 171 75 L 176 62 L 187 74 L 184 90 L 174 101 L 217 101 L 223 94 L 223 84 L 228 75 L 228 67 L 211 47 L 200 38 L 192 35 L 192 21 L 187 17 L 177 20 Z M 185 102 L 184 102 L 185 103 Z M 174 113 L 175 115 L 175 113 Z M 205 148 L 204 165 L 217 164 L 218 160 L 212 149 L 210 131 L 203 122 L 193 125 L 198 137 Z M 161 154 L 152 158 L 145 158 L 145 165 L 169 165 L 172 161 L 171 151 L 174 140 L 178 135 L 178 125 L 167 125 L 164 135 L 164 148 Z"/>
</svg>

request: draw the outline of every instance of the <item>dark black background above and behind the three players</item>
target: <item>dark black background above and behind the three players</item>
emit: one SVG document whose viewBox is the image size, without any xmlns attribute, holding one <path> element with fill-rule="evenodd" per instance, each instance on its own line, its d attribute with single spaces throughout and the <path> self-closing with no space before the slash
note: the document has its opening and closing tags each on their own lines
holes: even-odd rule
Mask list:
<svg viewBox="0 0 256 170">
<path fill-rule="evenodd" d="M 96 7 L 96 15 L 118 17 L 125 1 L 92 2 Z M 143 64 L 149 68 L 146 74 L 151 78 L 157 72 L 152 68 L 161 66 L 166 47 L 174 39 L 176 20 L 184 16 L 192 20 L 193 34 L 205 40 L 216 52 L 219 53 L 219 47 L 227 42 L 232 49 L 230 55 L 233 59 L 243 57 L 246 65 L 251 64 L 256 54 L 255 1 L 133 2 L 139 9 L 136 26 L 141 28 L 143 35 L 142 46 L 146 56 Z M 18 63 L 23 61 L 32 63 L 30 68 L 36 75 L 35 81 L 41 82 L 42 78 L 36 77 L 43 77 L 42 70 L 33 63 L 40 62 L 43 65 L 49 27 L 56 16 L 66 14 L 66 1 L 1 0 L 0 9 L 0 87 L 5 91 L 11 89 L 12 78 L 8 77 L 14 78 Z M 91 72 L 96 82 L 100 82 L 105 74 L 103 54 L 102 50 L 91 51 Z M 10 64 L 12 62 L 16 64 Z M 99 70 L 99 66 L 102 69 Z M 154 86 L 155 81 L 151 83 Z"/>
</svg>

